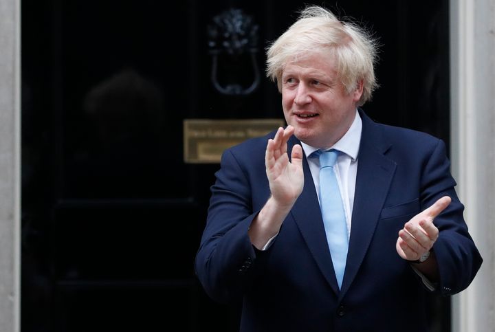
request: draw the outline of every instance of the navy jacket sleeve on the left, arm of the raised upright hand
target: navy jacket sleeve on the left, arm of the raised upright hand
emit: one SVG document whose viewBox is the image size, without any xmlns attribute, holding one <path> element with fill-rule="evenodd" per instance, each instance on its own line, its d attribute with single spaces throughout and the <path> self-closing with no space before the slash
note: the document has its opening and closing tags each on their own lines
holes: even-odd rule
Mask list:
<svg viewBox="0 0 495 332">
<path fill-rule="evenodd" d="M 257 251 L 248 230 L 258 211 L 252 210 L 248 176 L 232 151 L 223 153 L 215 176 L 195 271 L 211 298 L 228 302 L 241 296 L 252 275 Z"/>
</svg>

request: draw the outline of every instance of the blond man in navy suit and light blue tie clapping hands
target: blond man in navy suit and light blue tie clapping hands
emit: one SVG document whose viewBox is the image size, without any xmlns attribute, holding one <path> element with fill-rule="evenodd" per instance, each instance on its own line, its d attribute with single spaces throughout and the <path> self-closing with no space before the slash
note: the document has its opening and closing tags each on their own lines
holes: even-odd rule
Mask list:
<svg viewBox="0 0 495 332">
<path fill-rule="evenodd" d="M 212 298 L 242 297 L 241 331 L 426 331 L 426 293 L 481 265 L 443 142 L 358 109 L 374 61 L 320 7 L 267 52 L 288 125 L 223 153 L 195 264 Z"/>
</svg>

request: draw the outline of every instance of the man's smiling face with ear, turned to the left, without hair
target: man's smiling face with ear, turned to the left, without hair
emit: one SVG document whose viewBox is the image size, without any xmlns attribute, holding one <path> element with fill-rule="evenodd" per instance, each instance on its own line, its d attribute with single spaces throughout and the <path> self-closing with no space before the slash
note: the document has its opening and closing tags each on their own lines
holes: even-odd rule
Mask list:
<svg viewBox="0 0 495 332">
<path fill-rule="evenodd" d="M 338 80 L 332 57 L 311 54 L 283 69 L 282 107 L 299 140 L 318 148 L 335 144 L 354 117 L 362 84 L 347 93 Z"/>
</svg>

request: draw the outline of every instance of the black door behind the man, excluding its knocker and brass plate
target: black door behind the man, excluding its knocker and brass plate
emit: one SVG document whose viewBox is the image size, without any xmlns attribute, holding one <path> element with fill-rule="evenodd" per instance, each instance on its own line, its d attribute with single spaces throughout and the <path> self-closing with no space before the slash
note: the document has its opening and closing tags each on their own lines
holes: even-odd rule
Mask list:
<svg viewBox="0 0 495 332">
<path fill-rule="evenodd" d="M 367 113 L 448 143 L 448 1 L 326 4 L 382 44 Z M 193 271 L 219 165 L 183 162 L 182 124 L 281 118 L 263 49 L 302 7 L 22 1 L 23 332 L 236 331 L 238 306 L 210 301 Z M 261 82 L 247 96 L 210 80 L 208 25 L 230 8 L 259 26 Z M 449 300 L 430 305 L 432 331 L 449 331 Z"/>
</svg>

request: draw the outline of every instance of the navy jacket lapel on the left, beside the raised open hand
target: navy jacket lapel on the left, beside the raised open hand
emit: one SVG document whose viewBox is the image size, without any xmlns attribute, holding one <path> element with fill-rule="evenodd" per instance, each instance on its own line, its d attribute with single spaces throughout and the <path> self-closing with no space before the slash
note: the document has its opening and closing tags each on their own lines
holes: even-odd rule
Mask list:
<svg viewBox="0 0 495 332">
<path fill-rule="evenodd" d="M 291 139 L 288 143 L 289 151 L 292 151 L 294 144 L 299 144 L 296 139 Z M 309 251 L 314 256 L 323 276 L 325 276 L 333 291 L 338 294 L 339 289 L 335 272 L 333 271 L 327 237 L 325 236 L 320 204 L 318 203 L 318 196 L 316 195 L 316 189 L 306 157 L 303 159 L 303 171 L 305 177 L 303 192 L 301 192 L 294 204 L 291 215 L 296 225 L 298 225 L 299 231 L 303 235 Z"/>
</svg>

